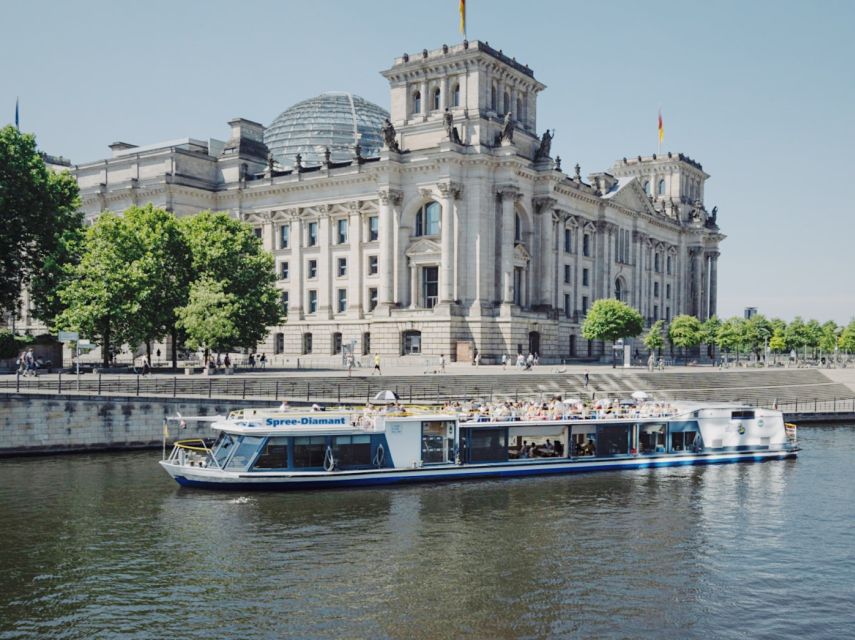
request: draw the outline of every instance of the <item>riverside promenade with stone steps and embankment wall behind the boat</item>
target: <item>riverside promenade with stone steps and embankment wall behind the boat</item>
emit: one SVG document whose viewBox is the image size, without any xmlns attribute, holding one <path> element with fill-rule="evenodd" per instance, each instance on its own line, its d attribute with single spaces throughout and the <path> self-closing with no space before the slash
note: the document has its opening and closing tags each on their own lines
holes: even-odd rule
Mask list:
<svg viewBox="0 0 855 640">
<path fill-rule="evenodd" d="M 585 383 L 585 373 L 588 383 Z M 233 375 L 156 372 L 0 376 L 0 456 L 161 446 L 163 422 L 180 413 L 223 415 L 243 407 L 359 405 L 384 390 L 402 402 L 624 399 L 731 401 L 781 409 L 788 421 L 855 424 L 855 369 L 671 367 L 650 372 L 610 366 L 438 363 L 372 369 L 238 370 Z M 208 425 L 172 424 L 168 439 L 205 437 Z"/>
</svg>

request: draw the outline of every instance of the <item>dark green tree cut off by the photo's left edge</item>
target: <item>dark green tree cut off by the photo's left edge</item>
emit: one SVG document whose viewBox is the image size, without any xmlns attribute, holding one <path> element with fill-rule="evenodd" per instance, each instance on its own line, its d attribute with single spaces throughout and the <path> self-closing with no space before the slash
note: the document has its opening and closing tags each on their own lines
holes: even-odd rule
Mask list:
<svg viewBox="0 0 855 640">
<path fill-rule="evenodd" d="M 16 310 L 21 291 L 40 279 L 35 311 L 53 318 L 62 275 L 56 269 L 68 257 L 69 234 L 82 226 L 79 205 L 77 182 L 47 168 L 34 136 L 0 129 L 0 308 Z"/>
</svg>

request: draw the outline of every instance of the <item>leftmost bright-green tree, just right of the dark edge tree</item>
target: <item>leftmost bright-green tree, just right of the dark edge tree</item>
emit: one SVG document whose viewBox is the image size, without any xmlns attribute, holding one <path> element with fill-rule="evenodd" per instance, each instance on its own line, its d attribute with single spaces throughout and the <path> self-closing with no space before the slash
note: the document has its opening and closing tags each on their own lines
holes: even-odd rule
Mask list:
<svg viewBox="0 0 855 640">
<path fill-rule="evenodd" d="M 59 329 L 73 329 L 101 344 L 106 366 L 115 346 L 138 335 L 144 274 L 137 259 L 142 245 L 113 213 L 102 214 L 86 231 L 80 261 L 59 289 L 65 309 Z"/>
</svg>

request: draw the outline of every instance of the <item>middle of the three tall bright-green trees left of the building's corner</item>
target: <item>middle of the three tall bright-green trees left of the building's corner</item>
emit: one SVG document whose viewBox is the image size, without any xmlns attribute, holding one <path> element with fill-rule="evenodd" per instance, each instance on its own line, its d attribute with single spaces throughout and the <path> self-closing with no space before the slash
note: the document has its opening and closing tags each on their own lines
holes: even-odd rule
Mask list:
<svg viewBox="0 0 855 640">
<path fill-rule="evenodd" d="M 128 233 L 139 242 L 134 256 L 139 274 L 140 312 L 131 328 L 133 344 L 145 343 L 149 361 L 151 343 L 172 336 L 172 366 L 177 366 L 179 327 L 177 310 L 187 304 L 192 279 L 191 258 L 178 220 L 149 204 L 131 207 L 123 217 Z"/>
</svg>

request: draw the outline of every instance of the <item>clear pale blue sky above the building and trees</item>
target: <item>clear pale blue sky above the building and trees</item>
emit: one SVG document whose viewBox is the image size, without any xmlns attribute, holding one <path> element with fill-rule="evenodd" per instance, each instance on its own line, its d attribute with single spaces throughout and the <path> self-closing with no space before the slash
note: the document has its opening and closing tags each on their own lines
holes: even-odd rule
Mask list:
<svg viewBox="0 0 855 640">
<path fill-rule="evenodd" d="M 855 316 L 855 2 L 468 0 L 468 36 L 547 85 L 569 170 L 663 151 L 700 161 L 728 235 L 719 314 Z M 462 40 L 457 0 L 8 2 L 0 123 L 85 162 L 122 140 L 228 136 L 322 91 L 388 109 L 378 71 Z M 5 113 L 3 112 L 5 110 Z"/>
</svg>

